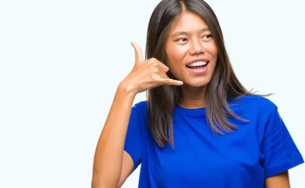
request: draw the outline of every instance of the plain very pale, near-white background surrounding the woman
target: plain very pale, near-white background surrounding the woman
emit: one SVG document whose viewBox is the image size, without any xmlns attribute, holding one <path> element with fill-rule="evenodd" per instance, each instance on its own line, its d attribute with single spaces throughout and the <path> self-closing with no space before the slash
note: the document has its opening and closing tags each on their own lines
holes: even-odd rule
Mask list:
<svg viewBox="0 0 305 188">
<path fill-rule="evenodd" d="M 118 83 L 159 0 L 0 1 L 0 187 L 90 187 Z M 304 138 L 303 1 L 209 0 L 238 78 Z M 137 95 L 134 103 L 145 100 Z M 119 117 L 120 114 L 117 114 Z M 136 187 L 138 168 L 123 187 Z M 304 187 L 305 165 L 290 170 Z"/>
</svg>

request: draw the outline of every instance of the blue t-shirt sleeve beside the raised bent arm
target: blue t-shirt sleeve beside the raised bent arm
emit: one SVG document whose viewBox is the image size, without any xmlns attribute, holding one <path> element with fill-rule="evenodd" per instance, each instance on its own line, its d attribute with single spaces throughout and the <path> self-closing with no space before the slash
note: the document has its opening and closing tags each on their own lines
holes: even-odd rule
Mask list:
<svg viewBox="0 0 305 188">
<path fill-rule="evenodd" d="M 142 161 L 142 128 L 140 110 L 139 104 L 132 107 L 124 145 L 124 150 L 130 154 L 134 162 L 133 171 Z"/>
</svg>

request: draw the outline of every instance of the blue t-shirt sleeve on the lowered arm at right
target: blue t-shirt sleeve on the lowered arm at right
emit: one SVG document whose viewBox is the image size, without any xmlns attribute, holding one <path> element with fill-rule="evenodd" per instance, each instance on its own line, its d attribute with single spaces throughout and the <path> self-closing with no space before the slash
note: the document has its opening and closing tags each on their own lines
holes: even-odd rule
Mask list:
<svg viewBox="0 0 305 188">
<path fill-rule="evenodd" d="M 279 114 L 278 107 L 271 112 L 265 124 L 262 148 L 265 178 L 304 163 Z"/>
</svg>

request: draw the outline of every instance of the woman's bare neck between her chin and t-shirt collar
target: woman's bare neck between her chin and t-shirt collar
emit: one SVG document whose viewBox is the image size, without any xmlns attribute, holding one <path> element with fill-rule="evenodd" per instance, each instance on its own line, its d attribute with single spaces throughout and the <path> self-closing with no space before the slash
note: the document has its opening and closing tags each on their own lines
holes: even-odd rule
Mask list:
<svg viewBox="0 0 305 188">
<path fill-rule="evenodd" d="M 181 85 L 181 91 L 182 101 L 179 106 L 190 109 L 202 108 L 206 106 L 206 86 L 192 87 L 189 85 Z"/>
</svg>

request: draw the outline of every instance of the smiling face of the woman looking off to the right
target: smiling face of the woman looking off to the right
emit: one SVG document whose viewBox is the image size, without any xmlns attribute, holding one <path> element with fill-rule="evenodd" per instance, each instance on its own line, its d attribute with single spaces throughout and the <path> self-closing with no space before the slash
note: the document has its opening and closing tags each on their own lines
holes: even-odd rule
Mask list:
<svg viewBox="0 0 305 188">
<path fill-rule="evenodd" d="M 183 13 L 170 29 L 165 52 L 171 74 L 185 85 L 208 84 L 217 62 L 217 47 L 205 21 Z M 207 64 L 207 65 L 205 65 Z"/>
</svg>

